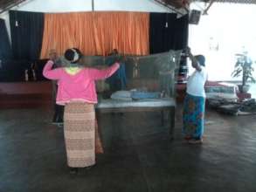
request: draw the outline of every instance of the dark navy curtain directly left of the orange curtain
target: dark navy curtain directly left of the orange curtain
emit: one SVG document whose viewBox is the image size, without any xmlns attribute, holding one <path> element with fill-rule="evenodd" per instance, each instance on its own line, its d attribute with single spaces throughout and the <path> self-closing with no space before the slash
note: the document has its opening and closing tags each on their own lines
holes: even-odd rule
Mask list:
<svg viewBox="0 0 256 192">
<path fill-rule="evenodd" d="M 43 32 L 44 13 L 10 10 L 10 33 L 15 59 L 37 60 Z"/>
</svg>

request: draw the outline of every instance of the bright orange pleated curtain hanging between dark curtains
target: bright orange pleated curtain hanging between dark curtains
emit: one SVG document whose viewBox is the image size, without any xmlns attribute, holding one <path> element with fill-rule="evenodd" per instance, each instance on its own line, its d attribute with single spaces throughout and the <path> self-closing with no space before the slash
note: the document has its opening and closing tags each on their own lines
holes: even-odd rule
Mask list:
<svg viewBox="0 0 256 192">
<path fill-rule="evenodd" d="M 85 55 L 149 54 L 149 13 L 82 12 L 45 14 L 41 58 L 78 47 Z"/>
</svg>

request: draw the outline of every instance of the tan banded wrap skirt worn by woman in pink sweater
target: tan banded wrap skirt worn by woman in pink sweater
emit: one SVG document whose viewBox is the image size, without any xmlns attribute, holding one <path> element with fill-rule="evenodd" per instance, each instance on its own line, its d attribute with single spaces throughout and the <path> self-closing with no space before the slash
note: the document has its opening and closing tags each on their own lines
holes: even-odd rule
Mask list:
<svg viewBox="0 0 256 192">
<path fill-rule="evenodd" d="M 93 104 L 71 102 L 64 113 L 67 164 L 85 168 L 95 164 L 95 153 L 103 153 Z"/>
</svg>

